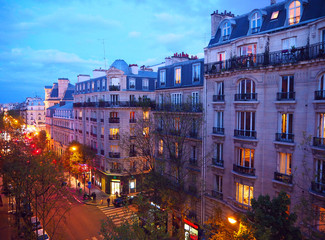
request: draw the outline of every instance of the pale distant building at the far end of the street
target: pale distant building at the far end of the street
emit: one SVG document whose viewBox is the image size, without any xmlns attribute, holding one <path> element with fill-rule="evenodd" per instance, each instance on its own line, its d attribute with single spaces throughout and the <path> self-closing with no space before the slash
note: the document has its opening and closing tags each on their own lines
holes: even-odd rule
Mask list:
<svg viewBox="0 0 325 240">
<path fill-rule="evenodd" d="M 35 127 L 38 131 L 45 130 L 45 106 L 42 98 L 26 98 L 21 106 L 20 115 L 27 127 Z"/>
</svg>

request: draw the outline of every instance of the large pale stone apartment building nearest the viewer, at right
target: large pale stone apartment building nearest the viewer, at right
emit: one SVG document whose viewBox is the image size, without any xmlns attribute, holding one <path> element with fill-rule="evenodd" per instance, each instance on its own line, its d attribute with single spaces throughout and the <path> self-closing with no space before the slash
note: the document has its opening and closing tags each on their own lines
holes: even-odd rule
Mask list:
<svg viewBox="0 0 325 240">
<path fill-rule="evenodd" d="M 216 206 L 229 217 L 284 190 L 290 211 L 309 203 L 297 223 L 312 212 L 310 228 L 324 231 L 325 1 L 274 2 L 211 15 L 204 220 Z"/>
</svg>

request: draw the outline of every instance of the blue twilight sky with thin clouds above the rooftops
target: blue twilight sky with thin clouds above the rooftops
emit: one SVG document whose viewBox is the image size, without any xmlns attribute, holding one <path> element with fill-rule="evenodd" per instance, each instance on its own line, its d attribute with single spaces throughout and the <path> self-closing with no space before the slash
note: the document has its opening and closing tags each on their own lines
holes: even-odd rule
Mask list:
<svg viewBox="0 0 325 240">
<path fill-rule="evenodd" d="M 241 15 L 270 0 L 0 0 L 0 103 L 44 97 L 60 77 L 115 59 L 152 65 L 175 52 L 203 57 L 210 14 Z"/>
</svg>

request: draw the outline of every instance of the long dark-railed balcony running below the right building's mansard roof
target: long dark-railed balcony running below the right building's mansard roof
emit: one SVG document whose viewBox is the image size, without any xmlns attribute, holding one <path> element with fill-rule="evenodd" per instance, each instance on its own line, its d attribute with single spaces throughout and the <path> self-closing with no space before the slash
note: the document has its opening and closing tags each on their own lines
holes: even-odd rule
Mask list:
<svg viewBox="0 0 325 240">
<path fill-rule="evenodd" d="M 256 55 L 239 56 L 205 64 L 206 74 L 221 74 L 238 69 L 254 69 L 282 64 L 292 64 L 312 59 L 325 58 L 324 43 L 316 43 L 291 50 L 264 52 Z"/>
</svg>

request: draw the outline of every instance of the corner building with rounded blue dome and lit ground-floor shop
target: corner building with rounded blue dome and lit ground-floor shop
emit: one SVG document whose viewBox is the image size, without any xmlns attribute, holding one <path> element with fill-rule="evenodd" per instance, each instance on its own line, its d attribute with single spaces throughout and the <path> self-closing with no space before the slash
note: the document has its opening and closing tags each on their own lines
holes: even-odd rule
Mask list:
<svg viewBox="0 0 325 240">
<path fill-rule="evenodd" d="M 149 117 L 141 102 L 155 98 L 157 73 L 116 60 L 108 70 L 79 75 L 74 95 L 75 140 L 97 154 L 92 182 L 109 194 L 141 191 L 139 177 L 148 172 L 132 139 L 137 122 Z M 121 136 L 129 134 L 127 149 Z"/>
</svg>

